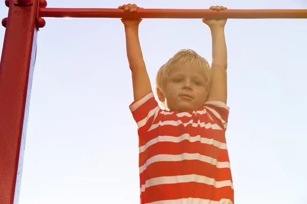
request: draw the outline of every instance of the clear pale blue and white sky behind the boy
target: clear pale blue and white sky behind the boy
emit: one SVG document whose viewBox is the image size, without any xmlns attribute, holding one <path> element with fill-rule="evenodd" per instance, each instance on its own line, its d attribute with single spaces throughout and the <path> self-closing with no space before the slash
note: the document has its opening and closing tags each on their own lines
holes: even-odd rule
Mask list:
<svg viewBox="0 0 307 204">
<path fill-rule="evenodd" d="M 48 7 L 129 2 L 49 0 Z M 144 8 L 307 9 L 305 0 L 156 0 Z M 2 17 L 8 9 L 0 7 Z M 38 36 L 19 204 L 139 203 L 137 125 L 119 19 L 46 19 Z M 0 29 L 3 41 L 5 29 Z M 226 133 L 236 204 L 307 203 L 307 19 L 229 19 Z M 182 48 L 211 62 L 201 19 L 144 19 L 144 59 L 158 69 Z"/>
</svg>

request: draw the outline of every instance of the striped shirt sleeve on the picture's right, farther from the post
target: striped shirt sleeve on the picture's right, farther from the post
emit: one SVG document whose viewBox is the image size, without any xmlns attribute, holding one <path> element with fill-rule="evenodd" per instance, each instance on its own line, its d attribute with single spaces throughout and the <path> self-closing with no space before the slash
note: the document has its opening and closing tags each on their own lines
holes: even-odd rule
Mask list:
<svg viewBox="0 0 307 204">
<path fill-rule="evenodd" d="M 226 131 L 230 108 L 221 101 L 207 101 L 204 107 L 212 120 Z"/>
</svg>

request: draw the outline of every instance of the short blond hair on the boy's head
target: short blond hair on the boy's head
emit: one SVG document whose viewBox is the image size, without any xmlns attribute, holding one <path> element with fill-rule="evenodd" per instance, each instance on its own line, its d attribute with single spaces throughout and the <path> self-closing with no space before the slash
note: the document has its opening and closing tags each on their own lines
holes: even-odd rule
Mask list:
<svg viewBox="0 0 307 204">
<path fill-rule="evenodd" d="M 207 89 L 205 98 L 208 97 L 208 90 L 210 86 L 211 67 L 208 61 L 197 54 L 192 49 L 182 49 L 170 58 L 158 71 L 156 77 L 156 91 L 160 89 L 163 91 L 164 84 L 168 78 L 169 73 L 174 67 L 179 67 L 184 63 L 190 63 L 192 67 L 198 67 L 203 73 L 203 77 L 206 81 L 205 87 Z M 161 104 L 165 108 L 165 104 Z"/>
</svg>

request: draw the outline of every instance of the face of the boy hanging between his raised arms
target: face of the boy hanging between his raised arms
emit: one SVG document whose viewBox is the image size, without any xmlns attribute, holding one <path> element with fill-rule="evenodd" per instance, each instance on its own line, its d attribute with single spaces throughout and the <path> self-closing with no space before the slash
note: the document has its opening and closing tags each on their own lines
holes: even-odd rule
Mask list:
<svg viewBox="0 0 307 204">
<path fill-rule="evenodd" d="M 189 63 L 174 68 L 168 75 L 163 96 L 170 111 L 186 112 L 204 106 L 206 81 L 198 68 Z"/>
</svg>

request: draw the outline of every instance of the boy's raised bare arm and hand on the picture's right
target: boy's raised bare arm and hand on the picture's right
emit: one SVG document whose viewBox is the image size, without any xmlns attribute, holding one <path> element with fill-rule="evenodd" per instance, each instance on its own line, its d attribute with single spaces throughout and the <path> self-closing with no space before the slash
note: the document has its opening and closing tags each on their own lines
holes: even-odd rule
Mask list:
<svg viewBox="0 0 307 204">
<path fill-rule="evenodd" d="M 223 12 L 225 7 L 211 7 L 217 12 Z M 211 84 L 208 94 L 208 101 L 217 100 L 227 103 L 227 47 L 225 40 L 225 24 L 227 19 L 204 19 L 212 36 L 212 65 Z"/>
</svg>

